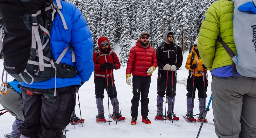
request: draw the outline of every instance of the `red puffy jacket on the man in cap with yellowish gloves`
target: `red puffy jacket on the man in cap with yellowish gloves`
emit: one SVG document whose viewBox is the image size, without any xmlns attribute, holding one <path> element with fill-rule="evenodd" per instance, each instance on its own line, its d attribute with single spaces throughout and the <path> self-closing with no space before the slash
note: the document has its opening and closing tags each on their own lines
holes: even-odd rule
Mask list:
<svg viewBox="0 0 256 138">
<path fill-rule="evenodd" d="M 130 51 L 125 74 L 151 76 L 147 73 L 151 66 L 157 67 L 156 51 L 150 47 L 150 44 L 147 48 L 143 48 L 138 39 L 136 46 L 132 47 Z"/>
</svg>

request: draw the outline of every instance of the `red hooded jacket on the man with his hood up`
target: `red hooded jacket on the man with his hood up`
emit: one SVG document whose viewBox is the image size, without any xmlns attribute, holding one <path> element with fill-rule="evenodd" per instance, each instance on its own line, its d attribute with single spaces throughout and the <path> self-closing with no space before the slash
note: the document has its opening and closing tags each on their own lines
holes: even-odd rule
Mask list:
<svg viewBox="0 0 256 138">
<path fill-rule="evenodd" d="M 100 37 L 101 39 L 99 40 L 99 50 L 100 50 L 100 44 L 103 42 L 103 41 L 108 41 L 108 38 L 107 37 Z M 109 43 L 109 41 L 108 41 Z M 112 54 L 110 53 L 111 51 L 111 47 L 110 45 L 108 46 L 109 48 L 109 51 L 108 51 L 108 54 L 107 55 L 104 55 L 104 56 L 100 56 L 98 58 L 98 61 L 97 61 L 97 52 L 94 52 L 93 53 L 93 63 L 94 63 L 94 78 L 96 77 L 102 77 L 102 78 L 106 78 L 106 70 L 104 71 L 104 69 L 101 69 L 100 68 L 100 65 L 105 63 L 105 62 L 108 62 L 108 63 L 113 63 L 114 65 L 116 65 L 116 68 L 115 70 L 118 70 L 120 69 L 121 67 L 121 64 L 119 62 L 119 59 L 116 55 L 115 52 L 113 52 L 113 56 L 114 56 L 114 61 L 113 61 L 113 57 L 112 57 Z M 100 50 L 100 55 L 101 54 L 104 54 L 103 52 L 101 52 Z M 111 77 L 111 72 L 110 71 L 114 71 L 114 69 L 107 69 L 108 70 L 108 77 Z M 114 75 L 113 75 L 114 77 Z"/>
</svg>

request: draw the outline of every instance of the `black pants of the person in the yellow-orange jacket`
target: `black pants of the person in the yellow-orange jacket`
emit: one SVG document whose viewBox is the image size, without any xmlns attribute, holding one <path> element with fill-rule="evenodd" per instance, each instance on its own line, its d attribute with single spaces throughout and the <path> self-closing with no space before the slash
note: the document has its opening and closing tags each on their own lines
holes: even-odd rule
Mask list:
<svg viewBox="0 0 256 138">
<path fill-rule="evenodd" d="M 190 75 L 187 77 L 187 97 L 192 97 L 192 92 L 193 92 L 193 79 L 194 75 L 190 78 Z M 208 80 L 207 77 L 205 77 L 205 92 L 204 92 L 204 81 L 203 81 L 203 76 L 196 77 L 195 76 L 195 83 L 194 83 L 194 93 L 193 93 L 193 98 L 195 98 L 195 90 L 197 88 L 198 90 L 198 98 L 207 98 L 207 86 L 208 86 Z"/>
</svg>

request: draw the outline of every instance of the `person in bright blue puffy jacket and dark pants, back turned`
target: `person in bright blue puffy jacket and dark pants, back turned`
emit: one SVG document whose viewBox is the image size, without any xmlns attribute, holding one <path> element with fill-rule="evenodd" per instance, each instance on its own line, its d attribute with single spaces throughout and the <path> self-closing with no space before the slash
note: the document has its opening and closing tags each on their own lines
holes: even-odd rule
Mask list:
<svg viewBox="0 0 256 138">
<path fill-rule="evenodd" d="M 49 2 L 48 0 L 0 0 L 0 8 L 4 7 L 5 9 L 0 10 L 3 23 L 9 21 L 5 19 L 8 18 L 8 14 L 13 15 L 15 13 L 14 17 L 24 16 L 19 15 L 21 13 L 17 14 L 18 8 L 21 8 L 21 11 L 22 8 L 26 10 L 26 6 L 28 6 L 26 4 L 33 3 L 38 6 L 40 2 L 45 1 Z M 12 2 L 16 3 L 12 4 Z M 77 74 L 72 78 L 56 78 L 56 83 L 55 77 L 42 82 L 33 82 L 31 85 L 25 82 L 19 83 L 24 111 L 24 123 L 19 127 L 22 134 L 20 138 L 65 138 L 63 130 L 69 124 L 73 113 L 78 88 L 89 80 L 94 69 L 93 39 L 81 11 L 69 2 L 60 0 L 53 2 L 57 7 L 62 7 L 58 9 L 63 16 L 56 12 L 53 20 L 50 32 L 52 57 L 57 60 L 63 50 L 71 44 L 76 61 L 72 62 L 72 52 L 69 48 L 60 63 L 75 67 Z M 39 5 L 36 10 L 41 10 L 41 7 Z M 63 24 L 63 18 L 67 29 Z M 14 19 L 10 18 L 11 20 Z M 56 91 L 54 90 L 55 85 Z"/>
</svg>

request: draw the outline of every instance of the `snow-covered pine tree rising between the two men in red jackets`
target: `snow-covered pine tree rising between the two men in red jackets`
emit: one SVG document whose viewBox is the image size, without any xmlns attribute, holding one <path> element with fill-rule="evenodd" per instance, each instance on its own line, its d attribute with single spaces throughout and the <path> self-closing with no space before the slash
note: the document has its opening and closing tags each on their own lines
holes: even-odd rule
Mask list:
<svg viewBox="0 0 256 138">
<path fill-rule="evenodd" d="M 119 38 L 119 47 L 121 51 L 119 55 L 121 58 L 119 59 L 122 66 L 125 66 L 127 63 L 127 59 L 131 50 L 131 22 L 130 18 L 128 17 L 128 9 L 129 9 L 129 1 L 128 0 L 121 0 L 122 7 L 120 9 L 121 20 L 122 21 L 122 28 L 121 28 L 121 36 Z"/>
</svg>

